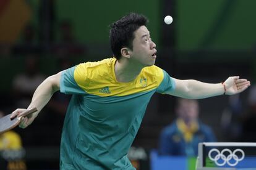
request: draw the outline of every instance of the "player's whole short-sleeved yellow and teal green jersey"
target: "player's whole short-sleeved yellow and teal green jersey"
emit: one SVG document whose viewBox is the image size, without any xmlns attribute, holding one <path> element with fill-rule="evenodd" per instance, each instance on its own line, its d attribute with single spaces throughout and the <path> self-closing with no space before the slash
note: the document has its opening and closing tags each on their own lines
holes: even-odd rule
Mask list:
<svg viewBox="0 0 256 170">
<path fill-rule="evenodd" d="M 134 169 L 127 158 L 155 92 L 175 88 L 155 65 L 120 83 L 116 59 L 81 63 L 62 72 L 61 92 L 72 94 L 61 140 L 61 169 Z"/>
</svg>

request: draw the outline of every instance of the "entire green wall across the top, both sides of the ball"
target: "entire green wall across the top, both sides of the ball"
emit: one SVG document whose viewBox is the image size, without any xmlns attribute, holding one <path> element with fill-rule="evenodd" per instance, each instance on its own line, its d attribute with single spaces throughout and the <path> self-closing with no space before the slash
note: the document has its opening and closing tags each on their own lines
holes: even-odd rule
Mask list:
<svg viewBox="0 0 256 170">
<path fill-rule="evenodd" d="M 172 0 L 174 1 L 174 0 Z M 28 0 L 33 23 L 37 24 L 38 0 Z M 85 44 L 108 44 L 108 25 L 129 12 L 146 15 L 153 40 L 161 46 L 163 0 L 67 1 L 56 0 L 56 25 L 70 20 L 75 37 Z M 179 50 L 247 50 L 256 44 L 255 0 L 176 0 L 176 29 Z M 171 13 L 171 12 L 170 12 Z M 171 29 L 170 29 L 171 31 Z"/>
</svg>

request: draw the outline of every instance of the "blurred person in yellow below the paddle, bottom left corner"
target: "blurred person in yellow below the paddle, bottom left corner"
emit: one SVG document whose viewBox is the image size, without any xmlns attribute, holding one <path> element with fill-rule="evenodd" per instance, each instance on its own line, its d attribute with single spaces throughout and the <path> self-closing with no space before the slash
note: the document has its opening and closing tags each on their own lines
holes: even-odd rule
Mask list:
<svg viewBox="0 0 256 170">
<path fill-rule="evenodd" d="M 4 113 L 0 111 L 0 118 Z M 22 140 L 14 131 L 0 134 L 0 169 L 25 170 L 27 166 L 23 157 L 25 151 L 22 148 Z"/>
</svg>

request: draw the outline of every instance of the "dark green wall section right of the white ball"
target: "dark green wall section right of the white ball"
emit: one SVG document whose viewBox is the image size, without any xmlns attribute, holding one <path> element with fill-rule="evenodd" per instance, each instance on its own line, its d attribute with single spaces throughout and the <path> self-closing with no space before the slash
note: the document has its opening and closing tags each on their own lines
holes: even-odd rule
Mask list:
<svg viewBox="0 0 256 170">
<path fill-rule="evenodd" d="M 247 50 L 256 45 L 255 0 L 178 0 L 177 6 L 177 49 Z"/>
</svg>

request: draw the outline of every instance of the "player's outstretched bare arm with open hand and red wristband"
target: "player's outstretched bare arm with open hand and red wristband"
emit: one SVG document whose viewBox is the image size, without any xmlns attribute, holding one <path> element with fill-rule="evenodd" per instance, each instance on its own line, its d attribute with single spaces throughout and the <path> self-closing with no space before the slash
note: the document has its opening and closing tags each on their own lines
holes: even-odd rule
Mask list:
<svg viewBox="0 0 256 170">
<path fill-rule="evenodd" d="M 175 79 L 176 88 L 167 94 L 175 95 L 186 99 L 203 99 L 216 95 L 238 94 L 250 86 L 247 79 L 239 79 L 239 76 L 229 77 L 224 83 L 203 83 L 194 79 Z"/>
</svg>

